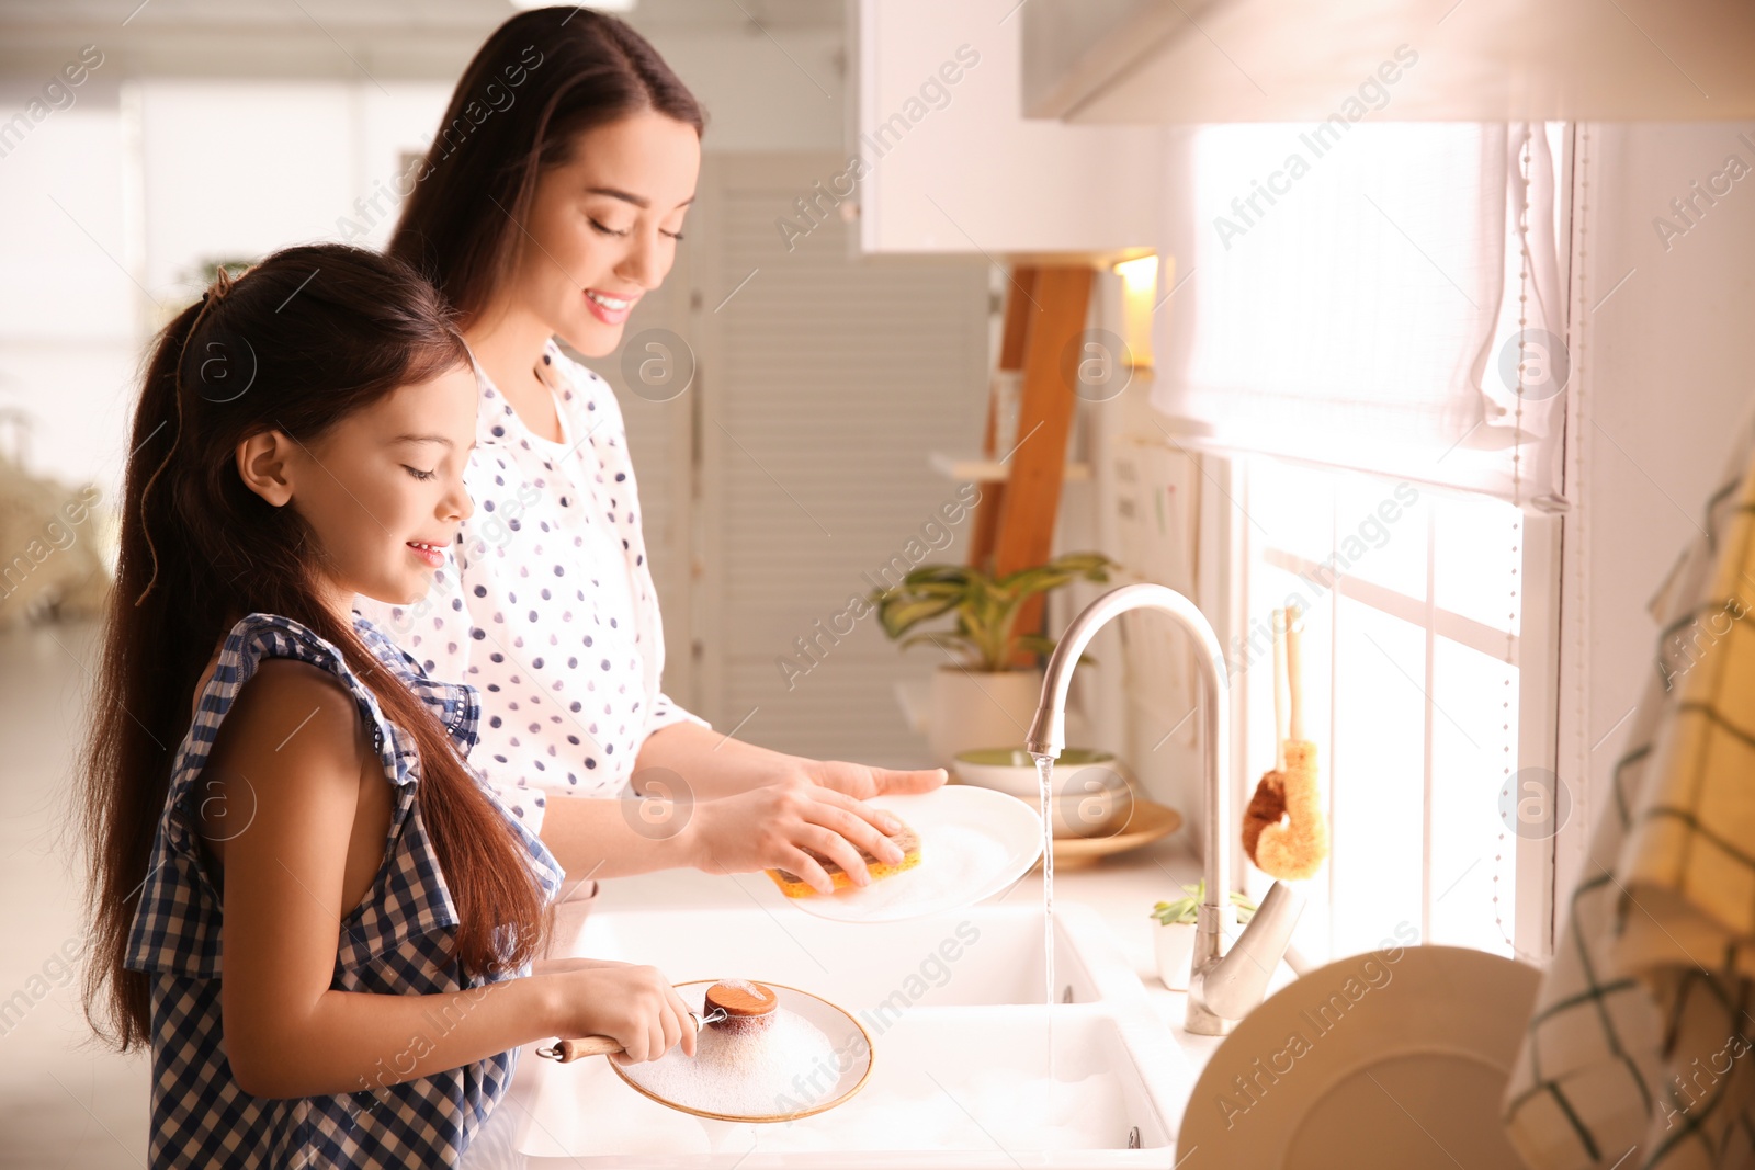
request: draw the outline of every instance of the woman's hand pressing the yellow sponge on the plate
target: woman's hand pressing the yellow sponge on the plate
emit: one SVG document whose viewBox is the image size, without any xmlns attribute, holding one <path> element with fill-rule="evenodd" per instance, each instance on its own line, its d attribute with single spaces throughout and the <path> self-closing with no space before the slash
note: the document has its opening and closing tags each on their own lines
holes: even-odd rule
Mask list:
<svg viewBox="0 0 1755 1170">
<path fill-rule="evenodd" d="M 886 812 L 792 775 L 695 805 L 688 831 L 695 837 L 695 867 L 707 874 L 779 868 L 827 895 L 835 882 L 806 849 L 832 858 L 856 886 L 867 886 L 870 875 L 860 849 L 883 861 L 900 861 L 902 851 L 886 837 L 899 828 Z"/>
</svg>

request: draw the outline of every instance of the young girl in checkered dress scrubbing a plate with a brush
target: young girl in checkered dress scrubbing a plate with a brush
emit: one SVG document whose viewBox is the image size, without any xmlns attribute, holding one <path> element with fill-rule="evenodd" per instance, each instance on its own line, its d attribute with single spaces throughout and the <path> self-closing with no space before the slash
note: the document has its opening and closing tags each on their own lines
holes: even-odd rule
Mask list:
<svg viewBox="0 0 1755 1170">
<path fill-rule="evenodd" d="M 409 602 L 469 517 L 476 379 L 437 295 L 340 246 L 219 279 L 133 419 L 84 777 L 93 1024 L 153 1051 L 153 1166 L 451 1166 L 518 1045 L 693 1051 L 646 967 L 528 975 L 560 886 L 463 763 Z"/>
</svg>

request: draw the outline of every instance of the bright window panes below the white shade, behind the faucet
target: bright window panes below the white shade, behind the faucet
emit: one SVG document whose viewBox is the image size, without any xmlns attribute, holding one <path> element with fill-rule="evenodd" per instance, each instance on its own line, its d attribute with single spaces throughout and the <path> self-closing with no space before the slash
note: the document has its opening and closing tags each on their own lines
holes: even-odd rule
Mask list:
<svg viewBox="0 0 1755 1170">
<path fill-rule="evenodd" d="M 1527 742 L 1543 737 L 1522 730 L 1553 689 L 1551 656 L 1520 640 L 1525 614 L 1546 628 L 1536 612 L 1551 603 L 1543 579 L 1527 596 L 1525 563 L 1543 561 L 1525 547 L 1523 512 L 1269 456 L 1241 470 L 1244 798 L 1274 765 L 1271 614 L 1297 603 L 1304 733 L 1332 831 L 1295 945 L 1320 961 L 1408 923 L 1422 942 L 1543 952 L 1551 835 L 1520 823 L 1509 796 L 1541 763 Z"/>
</svg>

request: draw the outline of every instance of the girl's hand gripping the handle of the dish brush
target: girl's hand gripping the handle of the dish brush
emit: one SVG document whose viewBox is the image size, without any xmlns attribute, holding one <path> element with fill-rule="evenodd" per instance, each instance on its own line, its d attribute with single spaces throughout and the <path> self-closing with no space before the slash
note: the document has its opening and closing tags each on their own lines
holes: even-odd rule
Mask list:
<svg viewBox="0 0 1755 1170">
<path fill-rule="evenodd" d="M 563 1038 L 611 1037 L 625 1051 L 609 1059 L 621 1065 L 658 1059 L 679 1042 L 684 1054 L 695 1054 L 695 1021 L 656 967 L 597 961 L 544 979 L 556 986 Z"/>
</svg>

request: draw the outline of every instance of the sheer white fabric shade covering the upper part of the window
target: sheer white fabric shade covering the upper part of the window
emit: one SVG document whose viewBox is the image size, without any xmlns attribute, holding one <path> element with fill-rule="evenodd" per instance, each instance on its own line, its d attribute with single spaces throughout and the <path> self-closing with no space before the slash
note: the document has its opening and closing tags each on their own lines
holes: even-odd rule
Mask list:
<svg viewBox="0 0 1755 1170">
<path fill-rule="evenodd" d="M 1153 405 L 1195 446 L 1564 509 L 1562 133 L 1179 132 Z"/>
</svg>

